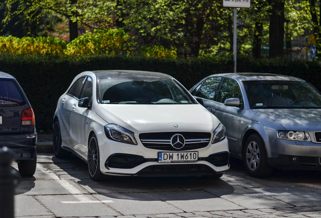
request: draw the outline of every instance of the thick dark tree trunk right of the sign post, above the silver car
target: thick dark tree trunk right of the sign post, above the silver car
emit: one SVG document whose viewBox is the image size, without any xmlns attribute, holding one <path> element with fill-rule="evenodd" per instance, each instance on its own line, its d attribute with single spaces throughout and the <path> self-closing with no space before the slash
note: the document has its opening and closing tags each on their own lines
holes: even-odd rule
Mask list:
<svg viewBox="0 0 321 218">
<path fill-rule="evenodd" d="M 285 0 L 270 0 L 272 12 L 270 15 L 270 49 L 269 57 L 283 57 L 284 55 L 284 2 Z"/>
</svg>

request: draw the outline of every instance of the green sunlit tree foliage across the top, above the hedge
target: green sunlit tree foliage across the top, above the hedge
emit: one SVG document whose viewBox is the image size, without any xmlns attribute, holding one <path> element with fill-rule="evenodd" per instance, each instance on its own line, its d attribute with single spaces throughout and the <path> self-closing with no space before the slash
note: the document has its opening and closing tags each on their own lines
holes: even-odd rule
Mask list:
<svg viewBox="0 0 321 218">
<path fill-rule="evenodd" d="M 94 29 L 121 27 L 136 42 L 136 50 L 143 46 L 173 47 L 177 56 L 184 58 L 233 51 L 233 9 L 224 8 L 222 1 L 0 0 L 0 3 L 5 24 L 17 16 L 23 17 L 29 26 L 27 21 L 40 24 L 49 20 L 49 26 L 69 22 L 78 25 L 76 34 L 80 35 Z M 287 42 L 298 35 L 305 35 L 308 40 L 314 35 L 319 48 L 319 7 L 316 0 L 252 0 L 250 9 L 238 9 L 238 52 L 260 58 L 262 45 L 270 44 L 270 50 L 277 48 L 270 55 L 282 56 L 284 34 Z"/>
</svg>

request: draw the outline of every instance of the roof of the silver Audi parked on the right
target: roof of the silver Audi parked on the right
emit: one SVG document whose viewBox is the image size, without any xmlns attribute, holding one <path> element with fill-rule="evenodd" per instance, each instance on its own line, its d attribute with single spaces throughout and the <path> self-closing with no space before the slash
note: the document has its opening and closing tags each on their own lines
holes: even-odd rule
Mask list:
<svg viewBox="0 0 321 218">
<path fill-rule="evenodd" d="M 270 73 L 223 73 L 214 74 L 211 76 L 225 76 L 234 78 L 238 81 L 255 81 L 255 80 L 292 80 L 292 81 L 304 81 L 300 78 L 280 75 L 280 74 L 270 74 Z M 209 77 L 211 77 L 209 76 Z"/>
</svg>

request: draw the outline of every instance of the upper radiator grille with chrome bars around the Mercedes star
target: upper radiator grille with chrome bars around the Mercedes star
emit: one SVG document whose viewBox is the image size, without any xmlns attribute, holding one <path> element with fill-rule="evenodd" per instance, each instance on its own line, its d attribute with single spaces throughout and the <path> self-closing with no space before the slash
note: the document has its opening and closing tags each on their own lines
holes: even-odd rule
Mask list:
<svg viewBox="0 0 321 218">
<path fill-rule="evenodd" d="M 185 145 L 176 149 L 171 145 L 171 138 L 175 134 L 181 134 L 185 138 Z M 204 132 L 161 132 L 141 133 L 139 139 L 146 148 L 167 151 L 194 150 L 206 147 L 210 141 L 210 133 Z"/>
</svg>

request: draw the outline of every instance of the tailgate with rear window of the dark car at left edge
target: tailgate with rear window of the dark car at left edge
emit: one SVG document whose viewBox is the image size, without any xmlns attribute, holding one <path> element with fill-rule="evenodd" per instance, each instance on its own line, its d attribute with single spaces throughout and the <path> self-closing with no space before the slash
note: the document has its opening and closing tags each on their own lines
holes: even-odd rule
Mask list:
<svg viewBox="0 0 321 218">
<path fill-rule="evenodd" d="M 0 78 L 0 133 L 20 132 L 22 111 L 28 107 L 17 81 Z"/>
</svg>

